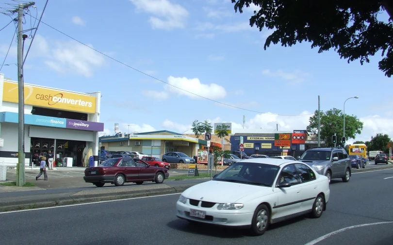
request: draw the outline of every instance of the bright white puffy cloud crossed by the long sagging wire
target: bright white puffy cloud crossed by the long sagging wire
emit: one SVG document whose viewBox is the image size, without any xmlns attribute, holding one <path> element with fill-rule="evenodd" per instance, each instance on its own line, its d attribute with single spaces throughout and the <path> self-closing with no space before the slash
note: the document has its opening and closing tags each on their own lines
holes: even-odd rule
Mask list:
<svg viewBox="0 0 393 245">
<path fill-rule="evenodd" d="M 220 98 L 225 98 L 227 96 L 227 91 L 225 90 L 224 87 L 216 83 L 203 84 L 197 78 L 188 79 L 186 77 L 175 78 L 170 76 L 168 78 L 168 83 L 171 84 L 172 86 L 166 84 L 164 85 L 164 89 L 169 94 L 184 95 L 190 98 L 200 98 L 199 96 L 194 95 L 197 94 L 210 99 L 220 99 Z M 180 90 L 174 86 L 181 88 L 183 90 Z M 186 91 L 192 92 L 194 94 L 188 93 Z M 208 91 L 208 93 L 206 91 Z"/>
</svg>

